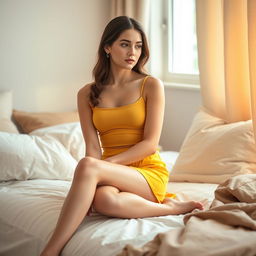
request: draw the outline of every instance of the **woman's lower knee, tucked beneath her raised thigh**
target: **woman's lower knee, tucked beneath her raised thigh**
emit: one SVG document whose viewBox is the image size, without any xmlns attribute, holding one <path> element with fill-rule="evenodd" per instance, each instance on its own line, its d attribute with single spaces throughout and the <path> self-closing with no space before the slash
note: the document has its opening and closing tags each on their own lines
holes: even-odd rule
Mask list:
<svg viewBox="0 0 256 256">
<path fill-rule="evenodd" d="M 111 215 L 118 207 L 118 193 L 115 188 L 99 187 L 95 192 L 93 208 L 101 214 Z"/>
</svg>

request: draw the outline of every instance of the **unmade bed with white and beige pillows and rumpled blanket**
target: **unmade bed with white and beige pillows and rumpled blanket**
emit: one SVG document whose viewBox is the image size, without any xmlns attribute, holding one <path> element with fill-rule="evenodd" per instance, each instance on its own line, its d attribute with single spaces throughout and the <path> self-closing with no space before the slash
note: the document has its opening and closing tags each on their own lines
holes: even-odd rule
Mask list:
<svg viewBox="0 0 256 256">
<path fill-rule="evenodd" d="M 14 113 L 16 125 L 11 121 L 12 114 L 11 111 L 6 112 L 4 118 L 0 119 L 0 255 L 34 256 L 39 255 L 55 227 L 75 166 L 84 155 L 85 145 L 80 124 L 76 121 L 77 113 L 31 114 L 16 111 Z M 211 126 L 209 126 L 209 118 Z M 231 140 L 228 137 L 231 136 L 230 133 L 223 132 L 222 126 L 225 131 L 232 128 L 232 136 L 239 138 L 239 141 Z M 246 219 L 240 224 L 235 218 L 230 224 L 232 228 L 236 225 L 242 227 L 241 237 L 246 233 L 242 243 L 241 241 L 237 243 L 238 248 L 242 248 L 243 251 L 235 248 L 241 254 L 233 254 L 234 248 L 229 250 L 227 244 L 230 240 L 228 240 L 225 244 L 228 248 L 226 254 L 211 254 L 209 250 L 212 249 L 206 247 L 201 252 L 194 250 L 195 253 L 191 255 L 256 255 L 256 243 L 253 242 L 256 241 L 256 151 L 255 144 L 248 139 L 251 128 L 248 132 L 247 126 L 251 127 L 249 122 L 236 124 L 227 129 L 220 120 L 215 120 L 205 112 L 199 112 L 181 151 L 160 152 L 170 171 L 168 192 L 175 193 L 177 200 L 202 201 L 206 215 L 215 211 L 215 207 L 221 204 L 230 206 L 230 203 L 233 203 L 230 198 L 235 198 L 236 203 L 240 200 L 239 203 L 242 203 L 243 207 L 245 204 L 246 207 L 249 205 L 246 208 L 249 210 L 242 211 L 241 215 L 249 216 L 250 221 Z M 221 132 L 218 130 L 220 127 L 222 127 Z M 20 133 L 21 130 L 23 133 Z M 206 134 L 209 137 L 209 133 L 211 137 L 217 139 L 205 140 Z M 244 148 L 244 139 L 246 139 L 246 148 Z M 233 143 L 231 148 L 229 146 L 229 150 L 222 149 L 220 152 L 213 150 L 216 148 L 214 143 L 224 148 L 227 144 L 226 140 L 231 140 Z M 200 147 L 195 142 L 199 142 Z M 240 144 L 243 150 L 236 154 L 234 150 L 237 150 Z M 237 162 L 243 162 L 240 168 L 235 165 Z M 250 193 L 245 193 L 245 190 L 241 189 L 241 182 L 235 182 L 236 186 L 240 184 L 239 188 L 233 189 L 231 186 L 234 184 L 233 180 L 241 176 L 245 178 L 242 181 L 243 185 L 251 184 Z M 225 185 L 227 181 L 229 183 Z M 222 201 L 216 198 L 216 191 L 220 191 L 223 195 L 223 184 L 229 191 L 227 195 L 229 201 L 225 197 Z M 236 194 L 230 194 L 230 191 L 236 191 Z M 237 191 L 241 192 L 242 196 L 237 196 Z M 243 207 L 239 204 L 229 212 L 237 212 Z M 225 214 L 226 211 L 225 208 Z M 200 211 L 195 211 L 192 215 L 118 219 L 93 212 L 81 223 L 62 251 L 62 255 L 164 256 L 170 255 L 168 253 L 170 249 L 172 255 L 188 255 L 188 251 L 191 251 L 191 243 L 185 243 L 186 241 L 193 241 L 197 248 L 201 246 L 202 241 L 214 245 L 211 242 L 212 238 L 207 237 L 206 234 L 212 230 L 212 227 L 216 227 L 218 224 L 216 221 L 220 221 L 222 217 L 214 217 L 215 222 L 210 222 L 212 226 L 209 225 L 206 233 L 203 231 L 204 228 L 199 229 L 201 233 L 198 233 L 199 238 L 196 236 L 197 243 L 191 236 L 182 236 L 197 233 L 196 229 L 188 228 L 193 227 L 194 220 L 198 218 L 202 220 L 200 226 L 206 227 L 210 218 L 207 216 L 201 216 Z M 226 222 L 224 218 L 224 223 L 218 225 L 226 225 Z M 243 226 L 245 222 L 247 226 Z M 232 229 L 231 227 L 229 226 L 228 230 Z M 237 232 L 236 228 L 234 232 Z M 249 236 L 246 232 L 248 229 Z M 216 234 L 213 237 L 216 237 Z M 233 234 L 231 237 L 237 236 Z M 206 241 L 201 238 L 205 238 Z M 223 237 L 219 240 L 226 241 Z"/>
</svg>

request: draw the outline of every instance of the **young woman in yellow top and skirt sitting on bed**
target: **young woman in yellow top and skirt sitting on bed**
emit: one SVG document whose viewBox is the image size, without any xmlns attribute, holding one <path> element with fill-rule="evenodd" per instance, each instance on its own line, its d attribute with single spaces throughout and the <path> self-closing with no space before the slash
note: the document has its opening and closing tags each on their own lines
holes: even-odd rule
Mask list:
<svg viewBox="0 0 256 256">
<path fill-rule="evenodd" d="M 146 75 L 149 57 L 141 26 L 120 16 L 106 26 L 93 70 L 95 81 L 78 92 L 86 156 L 55 231 L 41 256 L 59 255 L 92 206 L 118 218 L 182 214 L 200 202 L 166 198 L 168 171 L 158 152 L 164 88 Z"/>
</svg>

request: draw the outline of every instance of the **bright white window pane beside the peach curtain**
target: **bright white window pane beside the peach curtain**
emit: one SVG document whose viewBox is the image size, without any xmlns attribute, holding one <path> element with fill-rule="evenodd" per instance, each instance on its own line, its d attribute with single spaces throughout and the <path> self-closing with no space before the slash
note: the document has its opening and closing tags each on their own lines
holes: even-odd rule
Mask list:
<svg viewBox="0 0 256 256">
<path fill-rule="evenodd" d="M 197 75 L 198 56 L 196 40 L 195 0 L 173 0 L 169 5 L 172 35 L 169 43 L 169 72 Z"/>
</svg>

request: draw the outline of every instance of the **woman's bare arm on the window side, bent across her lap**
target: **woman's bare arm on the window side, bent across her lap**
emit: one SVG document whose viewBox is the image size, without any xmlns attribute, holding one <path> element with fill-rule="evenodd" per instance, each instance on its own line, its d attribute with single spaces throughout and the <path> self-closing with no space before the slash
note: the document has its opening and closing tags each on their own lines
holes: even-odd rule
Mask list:
<svg viewBox="0 0 256 256">
<path fill-rule="evenodd" d="M 149 77 L 145 89 L 146 121 L 143 140 L 127 151 L 105 159 L 118 164 L 130 164 L 156 152 L 164 118 L 164 87 L 160 80 Z"/>
</svg>

